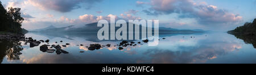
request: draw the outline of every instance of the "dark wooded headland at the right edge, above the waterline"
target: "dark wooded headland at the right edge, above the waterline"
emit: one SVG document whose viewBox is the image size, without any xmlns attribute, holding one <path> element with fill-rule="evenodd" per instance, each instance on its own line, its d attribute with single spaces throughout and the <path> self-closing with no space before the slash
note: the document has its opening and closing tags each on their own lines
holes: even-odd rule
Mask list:
<svg viewBox="0 0 256 75">
<path fill-rule="evenodd" d="M 245 23 L 243 26 L 237 27 L 235 30 L 228 31 L 229 34 L 240 35 L 256 35 L 256 19 L 253 23 Z"/>
</svg>

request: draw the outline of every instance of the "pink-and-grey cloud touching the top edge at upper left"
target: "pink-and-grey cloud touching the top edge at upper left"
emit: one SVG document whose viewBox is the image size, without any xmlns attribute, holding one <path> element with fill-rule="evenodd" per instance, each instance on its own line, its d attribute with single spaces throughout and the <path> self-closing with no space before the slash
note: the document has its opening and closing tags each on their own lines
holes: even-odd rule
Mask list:
<svg viewBox="0 0 256 75">
<path fill-rule="evenodd" d="M 80 9 L 85 5 L 86 9 L 90 9 L 94 3 L 102 0 L 28 0 L 25 3 L 39 7 L 42 10 L 55 10 L 59 12 L 69 12 L 75 9 Z"/>
</svg>

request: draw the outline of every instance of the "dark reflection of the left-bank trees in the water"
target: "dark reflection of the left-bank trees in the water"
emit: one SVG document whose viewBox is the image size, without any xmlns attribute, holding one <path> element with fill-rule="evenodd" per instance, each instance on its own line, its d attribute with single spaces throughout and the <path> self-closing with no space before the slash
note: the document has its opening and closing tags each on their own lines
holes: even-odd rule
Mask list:
<svg viewBox="0 0 256 75">
<path fill-rule="evenodd" d="M 22 55 L 22 45 L 19 41 L 1 40 L 0 42 L 0 63 L 7 56 L 8 60 L 19 60 L 19 55 Z"/>
</svg>

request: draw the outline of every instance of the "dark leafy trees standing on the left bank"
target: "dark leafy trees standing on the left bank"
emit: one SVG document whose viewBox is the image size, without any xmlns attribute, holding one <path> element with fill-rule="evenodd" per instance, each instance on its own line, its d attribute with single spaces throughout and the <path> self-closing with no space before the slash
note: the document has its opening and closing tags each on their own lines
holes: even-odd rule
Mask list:
<svg viewBox="0 0 256 75">
<path fill-rule="evenodd" d="M 24 18 L 20 16 L 20 8 L 9 7 L 7 11 L 1 2 L 0 4 L 0 31 L 21 33 Z"/>
</svg>

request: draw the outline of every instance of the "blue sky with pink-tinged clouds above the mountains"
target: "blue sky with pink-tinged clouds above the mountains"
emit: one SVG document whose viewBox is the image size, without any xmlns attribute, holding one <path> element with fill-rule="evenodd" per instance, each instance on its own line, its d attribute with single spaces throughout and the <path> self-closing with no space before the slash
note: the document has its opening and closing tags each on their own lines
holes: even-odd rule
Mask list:
<svg viewBox="0 0 256 75">
<path fill-rule="evenodd" d="M 19 7 L 27 30 L 109 20 L 159 20 L 160 27 L 228 31 L 256 18 L 256 0 L 0 0 Z"/>
</svg>

